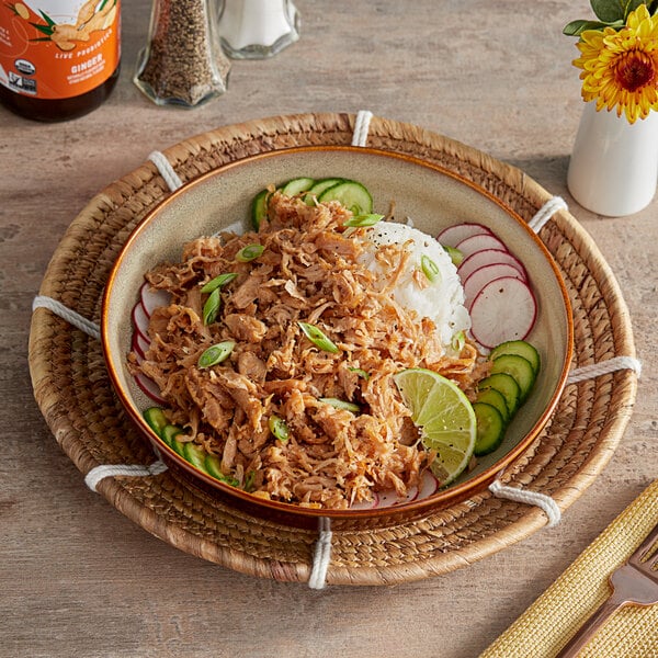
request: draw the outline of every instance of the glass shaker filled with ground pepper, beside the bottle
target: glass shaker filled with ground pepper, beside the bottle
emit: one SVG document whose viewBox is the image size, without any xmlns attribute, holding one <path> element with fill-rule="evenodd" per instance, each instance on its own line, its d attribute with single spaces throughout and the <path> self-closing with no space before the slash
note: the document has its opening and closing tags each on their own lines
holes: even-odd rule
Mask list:
<svg viewBox="0 0 658 658">
<path fill-rule="evenodd" d="M 149 99 L 195 107 L 226 91 L 229 71 L 216 0 L 154 0 L 148 42 L 133 79 Z"/>
</svg>

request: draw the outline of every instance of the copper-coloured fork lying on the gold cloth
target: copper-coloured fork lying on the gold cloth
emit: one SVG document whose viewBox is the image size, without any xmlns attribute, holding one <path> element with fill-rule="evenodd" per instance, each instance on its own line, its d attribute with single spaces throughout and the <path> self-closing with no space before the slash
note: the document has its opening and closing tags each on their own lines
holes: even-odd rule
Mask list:
<svg viewBox="0 0 658 658">
<path fill-rule="evenodd" d="M 654 549 L 654 551 L 651 551 Z M 628 560 L 610 575 L 612 594 L 587 620 L 556 658 L 574 658 L 608 617 L 628 603 L 658 603 L 658 524 Z"/>
</svg>

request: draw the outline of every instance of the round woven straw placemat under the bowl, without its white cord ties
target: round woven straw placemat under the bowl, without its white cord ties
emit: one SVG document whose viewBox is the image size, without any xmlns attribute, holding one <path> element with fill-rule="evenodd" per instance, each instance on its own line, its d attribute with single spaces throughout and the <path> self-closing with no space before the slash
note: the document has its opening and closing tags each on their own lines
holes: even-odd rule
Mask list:
<svg viewBox="0 0 658 658">
<path fill-rule="evenodd" d="M 180 178 L 246 156 L 307 145 L 349 145 L 355 115 L 306 114 L 219 128 L 163 151 Z M 422 158 L 474 181 L 530 220 L 551 195 L 520 170 L 460 143 L 382 118 L 367 145 Z M 148 162 L 112 183 L 72 222 L 39 294 L 98 324 L 103 286 L 132 229 L 169 194 Z M 576 219 L 558 211 L 540 232 L 569 291 L 575 324 L 574 367 L 635 356 L 627 309 L 609 265 Z M 87 474 L 101 464 L 156 460 L 114 396 L 100 341 L 46 308 L 30 337 L 36 400 L 57 442 Z M 569 384 L 531 449 L 508 468 L 507 485 L 574 502 L 612 456 L 628 422 L 636 374 L 620 370 Z M 106 477 L 101 492 L 126 517 L 172 546 L 238 571 L 306 581 L 317 533 L 256 519 L 198 490 L 172 470 Z M 513 544 L 546 523 L 525 503 L 486 491 L 406 524 L 336 532 L 329 585 L 388 585 L 445 574 Z"/>
</svg>

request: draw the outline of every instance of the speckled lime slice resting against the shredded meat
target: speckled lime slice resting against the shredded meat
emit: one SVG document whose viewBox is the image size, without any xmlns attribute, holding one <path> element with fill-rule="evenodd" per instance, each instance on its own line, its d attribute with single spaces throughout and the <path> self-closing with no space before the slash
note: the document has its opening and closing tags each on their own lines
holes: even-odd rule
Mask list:
<svg viewBox="0 0 658 658">
<path fill-rule="evenodd" d="M 424 368 L 401 371 L 394 381 L 422 444 L 436 452 L 432 472 L 441 486 L 450 485 L 468 466 L 475 447 L 477 422 L 468 398 L 456 384 Z"/>
</svg>

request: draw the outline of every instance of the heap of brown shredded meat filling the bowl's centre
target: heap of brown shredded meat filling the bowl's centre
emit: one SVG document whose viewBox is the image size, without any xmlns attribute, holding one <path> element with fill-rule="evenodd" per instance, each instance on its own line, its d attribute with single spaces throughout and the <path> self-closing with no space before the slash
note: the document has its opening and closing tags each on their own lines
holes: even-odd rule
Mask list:
<svg viewBox="0 0 658 658">
<path fill-rule="evenodd" d="M 241 486 L 249 480 L 260 497 L 347 508 L 377 490 L 405 495 L 432 455 L 393 375 L 431 367 L 473 386 L 478 366 L 468 347 L 462 359 L 449 359 L 431 320 L 397 305 L 389 291 L 375 292 L 374 274 L 359 264 L 360 243 L 343 228 L 350 216 L 336 202 L 309 206 L 274 193 L 258 232 L 200 238 L 184 247 L 181 262 L 147 273 L 171 293 L 171 304 L 152 314 L 150 348 L 139 366 L 129 360 L 132 370 L 159 385 L 190 440 L 219 455 L 225 474 Z M 262 254 L 236 260 L 251 243 L 262 245 Z M 400 269 L 404 253 L 388 246 L 381 258 Z M 200 290 L 228 272 L 237 276 L 204 325 L 207 295 Z M 320 329 L 338 352 L 318 349 L 299 321 Z M 235 341 L 227 360 L 197 365 L 207 348 L 227 340 Z M 287 440 L 272 434 L 273 416 L 285 422 Z"/>
</svg>

